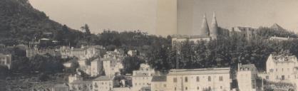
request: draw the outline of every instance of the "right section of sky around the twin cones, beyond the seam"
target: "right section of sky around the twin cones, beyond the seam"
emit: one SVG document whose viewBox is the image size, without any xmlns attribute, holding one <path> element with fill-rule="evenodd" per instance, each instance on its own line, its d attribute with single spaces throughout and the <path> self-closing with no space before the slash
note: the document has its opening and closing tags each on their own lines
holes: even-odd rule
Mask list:
<svg viewBox="0 0 298 91">
<path fill-rule="evenodd" d="M 195 35 L 204 14 L 210 26 L 213 12 L 223 28 L 277 23 L 298 32 L 297 0 L 178 0 L 178 33 Z"/>
</svg>

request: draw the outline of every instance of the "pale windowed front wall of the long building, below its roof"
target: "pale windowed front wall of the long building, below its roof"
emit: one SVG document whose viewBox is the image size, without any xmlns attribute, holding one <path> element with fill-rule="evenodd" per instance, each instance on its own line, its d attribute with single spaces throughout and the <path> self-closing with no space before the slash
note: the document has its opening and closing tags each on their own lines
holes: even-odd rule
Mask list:
<svg viewBox="0 0 298 91">
<path fill-rule="evenodd" d="M 199 77 L 197 80 L 197 77 Z M 208 80 L 208 78 L 211 80 Z M 220 80 L 222 77 L 222 80 Z M 177 79 L 174 82 L 174 79 Z M 187 79 L 187 80 L 186 80 Z M 207 74 L 207 75 L 168 75 L 167 90 L 230 90 L 230 73 L 228 74 Z"/>
</svg>

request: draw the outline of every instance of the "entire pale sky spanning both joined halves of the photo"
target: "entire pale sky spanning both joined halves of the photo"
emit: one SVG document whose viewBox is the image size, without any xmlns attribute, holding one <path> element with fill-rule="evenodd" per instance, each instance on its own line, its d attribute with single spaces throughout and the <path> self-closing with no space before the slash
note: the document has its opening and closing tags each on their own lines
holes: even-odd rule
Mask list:
<svg viewBox="0 0 298 91">
<path fill-rule="evenodd" d="M 178 0 L 177 6 L 168 5 L 175 4 L 170 2 L 163 2 L 165 6 L 158 4 L 165 0 L 29 1 L 54 21 L 71 28 L 79 29 L 87 23 L 92 33 L 100 33 L 103 29 L 110 28 L 115 31 L 140 30 L 160 35 L 195 35 L 195 31 L 200 28 L 203 14 L 206 14 L 210 25 L 213 12 L 218 25 L 223 28 L 258 28 L 278 23 L 283 28 L 298 32 L 297 0 Z M 170 9 L 164 9 L 168 8 L 167 6 L 170 6 Z M 163 11 L 159 11 L 160 8 L 163 8 Z M 173 24 L 174 21 L 177 21 L 177 24 Z M 162 26 L 168 28 L 162 28 L 168 32 L 160 32 L 158 29 Z"/>
</svg>

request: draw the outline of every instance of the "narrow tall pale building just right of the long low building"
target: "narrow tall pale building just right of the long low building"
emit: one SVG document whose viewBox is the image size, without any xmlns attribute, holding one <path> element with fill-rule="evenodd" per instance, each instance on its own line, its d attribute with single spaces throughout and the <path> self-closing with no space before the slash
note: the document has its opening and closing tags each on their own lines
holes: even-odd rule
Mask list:
<svg viewBox="0 0 298 91">
<path fill-rule="evenodd" d="M 257 88 L 257 68 L 255 65 L 238 64 L 237 82 L 240 91 L 255 91 Z"/>
</svg>

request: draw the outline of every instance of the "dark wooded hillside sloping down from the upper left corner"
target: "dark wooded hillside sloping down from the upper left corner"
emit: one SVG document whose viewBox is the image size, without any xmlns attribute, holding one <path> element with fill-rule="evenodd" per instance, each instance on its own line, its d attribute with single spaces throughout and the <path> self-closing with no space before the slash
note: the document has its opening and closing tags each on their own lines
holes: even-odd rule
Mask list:
<svg viewBox="0 0 298 91">
<path fill-rule="evenodd" d="M 42 37 L 44 32 L 51 32 L 55 36 L 58 31 L 62 31 L 63 25 L 52 21 L 42 11 L 34 9 L 28 0 L 0 1 L 0 43 L 26 43 L 34 37 Z"/>
</svg>

